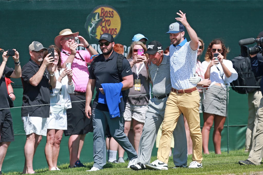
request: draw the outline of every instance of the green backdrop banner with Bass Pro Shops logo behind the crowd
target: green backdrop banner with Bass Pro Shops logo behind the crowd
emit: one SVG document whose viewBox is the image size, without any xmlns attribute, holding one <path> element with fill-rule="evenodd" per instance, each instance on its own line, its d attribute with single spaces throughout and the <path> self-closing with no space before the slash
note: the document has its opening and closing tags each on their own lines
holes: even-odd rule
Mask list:
<svg viewBox="0 0 263 175">
<path fill-rule="evenodd" d="M 228 59 L 240 53 L 238 41 L 245 38 L 255 38 L 263 30 L 261 1 L 178 1 L 178 0 L 122 0 L 122 1 L 84 1 L 84 0 L 0 0 L 0 47 L 4 50 L 17 49 L 21 66 L 29 60 L 28 46 L 32 41 L 39 41 L 45 47 L 54 44 L 54 38 L 66 28 L 73 32 L 79 31 L 92 47 L 101 53 L 98 37 L 104 32 L 112 33 L 115 43 L 125 46 L 125 54 L 131 44 L 134 34 L 144 34 L 149 41 L 158 40 L 163 47 L 169 46 L 169 35 L 165 34 L 171 23 L 182 10 L 191 27 L 199 37 L 203 38 L 205 47 L 211 40 L 221 38 L 230 48 Z M 97 35 L 97 36 L 96 36 Z M 186 38 L 189 36 L 186 32 Z M 78 48 L 83 49 L 83 48 Z M 205 51 L 204 51 L 205 52 Z M 204 54 L 203 54 L 204 57 Z M 203 61 L 203 57 L 201 61 Z M 9 59 L 8 67 L 14 67 Z M 12 79 L 16 94 L 15 107 L 22 105 L 22 84 L 20 79 Z M 247 96 L 229 92 L 229 146 L 230 150 L 244 147 L 247 124 Z M 21 120 L 21 108 L 11 109 L 15 141 L 8 148 L 2 171 L 21 171 L 24 166 L 24 144 L 26 136 Z M 201 126 L 203 116 L 201 115 Z M 211 135 L 212 135 L 211 131 Z M 214 150 L 210 135 L 209 149 Z M 43 137 L 36 155 L 34 169 L 47 167 L 44 156 L 46 138 Z M 93 137 L 87 134 L 82 162 L 93 161 Z M 222 131 L 222 151 L 227 150 L 226 129 Z M 63 137 L 58 165 L 69 162 L 68 137 Z M 156 149 L 153 151 L 156 155 Z"/>
</svg>

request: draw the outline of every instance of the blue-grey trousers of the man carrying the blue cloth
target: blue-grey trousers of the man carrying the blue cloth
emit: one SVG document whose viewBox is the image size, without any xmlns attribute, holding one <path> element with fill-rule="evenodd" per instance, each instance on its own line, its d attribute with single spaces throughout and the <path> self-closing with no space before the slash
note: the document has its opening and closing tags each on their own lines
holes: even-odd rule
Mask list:
<svg viewBox="0 0 263 175">
<path fill-rule="evenodd" d="M 120 146 L 127 152 L 129 160 L 137 158 L 137 153 L 128 137 L 124 134 L 124 120 L 123 114 L 120 117 L 110 119 L 109 112 L 101 111 L 98 109 L 92 110 L 93 115 L 93 167 L 102 169 L 106 164 L 106 143 L 105 143 L 105 130 L 109 125 L 110 134 L 119 143 Z"/>
</svg>

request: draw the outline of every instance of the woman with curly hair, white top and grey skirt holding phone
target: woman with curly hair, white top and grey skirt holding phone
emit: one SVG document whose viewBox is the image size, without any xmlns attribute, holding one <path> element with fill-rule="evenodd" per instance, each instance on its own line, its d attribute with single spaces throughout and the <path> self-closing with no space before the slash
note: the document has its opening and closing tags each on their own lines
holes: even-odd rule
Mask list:
<svg viewBox="0 0 263 175">
<path fill-rule="evenodd" d="M 209 154 L 208 141 L 214 122 L 213 142 L 216 154 L 221 154 L 221 132 L 226 120 L 226 85 L 237 79 L 237 72 L 230 60 L 226 60 L 229 49 L 222 40 L 214 39 L 208 46 L 202 67 L 205 78 L 211 80 L 203 100 L 204 126 L 202 129 L 203 151 Z"/>
</svg>

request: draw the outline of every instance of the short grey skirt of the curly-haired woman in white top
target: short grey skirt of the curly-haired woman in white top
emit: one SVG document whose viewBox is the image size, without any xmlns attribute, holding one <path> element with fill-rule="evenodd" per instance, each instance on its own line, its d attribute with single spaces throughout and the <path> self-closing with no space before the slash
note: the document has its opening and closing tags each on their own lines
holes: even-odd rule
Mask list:
<svg viewBox="0 0 263 175">
<path fill-rule="evenodd" d="M 213 85 L 205 92 L 203 112 L 226 116 L 226 89 Z"/>
</svg>

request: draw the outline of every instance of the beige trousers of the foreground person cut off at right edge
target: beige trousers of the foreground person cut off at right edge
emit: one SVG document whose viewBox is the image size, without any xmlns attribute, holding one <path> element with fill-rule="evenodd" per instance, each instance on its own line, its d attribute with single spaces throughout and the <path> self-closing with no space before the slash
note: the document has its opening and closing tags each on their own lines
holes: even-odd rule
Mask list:
<svg viewBox="0 0 263 175">
<path fill-rule="evenodd" d="M 256 165 L 260 165 L 263 156 L 263 98 L 260 99 L 258 114 L 256 135 L 254 137 L 255 144 L 252 145 L 252 149 L 247 159 Z"/>
</svg>

